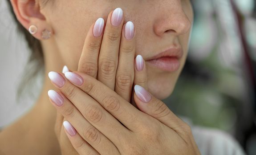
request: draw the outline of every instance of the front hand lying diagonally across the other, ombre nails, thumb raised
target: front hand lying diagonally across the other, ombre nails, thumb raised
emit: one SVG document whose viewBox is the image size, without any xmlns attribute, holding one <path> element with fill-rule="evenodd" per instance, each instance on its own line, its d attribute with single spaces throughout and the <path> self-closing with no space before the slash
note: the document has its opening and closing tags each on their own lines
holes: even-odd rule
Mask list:
<svg viewBox="0 0 256 155">
<path fill-rule="evenodd" d="M 87 74 L 60 75 L 65 84 L 59 88 L 52 81 L 61 92 L 53 92 L 51 101 L 68 120 L 68 138 L 79 154 L 88 155 L 87 143 L 101 155 L 200 154 L 191 128 L 141 86 L 134 87 L 138 110 Z"/>
</svg>

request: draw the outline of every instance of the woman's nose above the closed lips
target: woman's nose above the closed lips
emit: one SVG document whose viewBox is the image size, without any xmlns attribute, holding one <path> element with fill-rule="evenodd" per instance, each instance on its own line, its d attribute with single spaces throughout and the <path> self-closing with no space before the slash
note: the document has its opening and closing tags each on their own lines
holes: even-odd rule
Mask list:
<svg viewBox="0 0 256 155">
<path fill-rule="evenodd" d="M 163 5 L 161 6 L 162 10 L 157 13 L 158 18 L 154 22 L 154 32 L 158 36 L 170 32 L 175 35 L 183 35 L 190 30 L 191 22 L 183 11 L 180 0 L 169 0 Z"/>
</svg>

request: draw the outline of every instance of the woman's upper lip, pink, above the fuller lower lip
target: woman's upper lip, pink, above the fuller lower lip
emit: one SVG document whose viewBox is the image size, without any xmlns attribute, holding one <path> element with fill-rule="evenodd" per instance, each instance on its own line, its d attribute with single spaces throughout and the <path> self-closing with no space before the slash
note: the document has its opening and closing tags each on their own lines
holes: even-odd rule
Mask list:
<svg viewBox="0 0 256 155">
<path fill-rule="evenodd" d="M 166 50 L 163 50 L 163 52 L 160 52 L 156 55 L 154 55 L 151 58 L 148 58 L 147 60 L 152 60 L 152 59 L 157 59 L 161 57 L 176 57 L 176 58 L 181 58 L 183 55 L 183 51 L 181 46 L 171 46 L 168 47 Z"/>
</svg>

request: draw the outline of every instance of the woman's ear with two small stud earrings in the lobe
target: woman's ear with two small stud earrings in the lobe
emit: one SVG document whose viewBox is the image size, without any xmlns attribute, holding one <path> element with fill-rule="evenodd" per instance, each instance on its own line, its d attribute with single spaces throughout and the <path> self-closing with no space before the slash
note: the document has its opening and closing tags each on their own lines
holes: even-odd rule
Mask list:
<svg viewBox="0 0 256 155">
<path fill-rule="evenodd" d="M 23 27 L 29 31 L 29 27 L 34 25 L 37 27 L 37 32 L 32 34 L 35 38 L 49 39 L 53 30 L 41 13 L 41 4 L 38 0 L 11 0 L 11 3 L 16 18 Z"/>
</svg>

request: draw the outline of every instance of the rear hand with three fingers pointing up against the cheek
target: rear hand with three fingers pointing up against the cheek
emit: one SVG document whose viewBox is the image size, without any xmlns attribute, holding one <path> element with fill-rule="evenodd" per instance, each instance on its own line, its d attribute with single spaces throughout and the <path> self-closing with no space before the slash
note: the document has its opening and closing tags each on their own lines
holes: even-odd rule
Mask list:
<svg viewBox="0 0 256 155">
<path fill-rule="evenodd" d="M 102 18 L 92 24 L 85 39 L 77 71 L 98 79 L 126 101 L 134 103 L 131 101 L 133 84 L 146 88 L 146 81 L 143 81 L 146 78 L 143 74 L 134 77 L 135 30 L 132 22 L 123 22 L 122 9 L 117 8 L 108 15 L 106 27 Z M 64 133 L 63 121 L 65 118 L 57 113 L 55 132 L 62 155 L 78 154 Z M 86 144 L 88 154 L 99 154 L 89 143 Z"/>
</svg>

